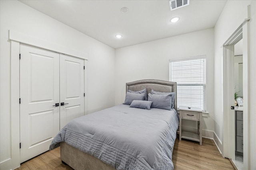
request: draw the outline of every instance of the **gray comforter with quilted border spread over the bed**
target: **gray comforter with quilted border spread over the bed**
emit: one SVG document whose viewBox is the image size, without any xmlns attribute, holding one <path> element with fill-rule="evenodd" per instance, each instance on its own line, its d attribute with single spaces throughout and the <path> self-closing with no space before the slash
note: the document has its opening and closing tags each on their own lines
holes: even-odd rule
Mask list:
<svg viewBox="0 0 256 170">
<path fill-rule="evenodd" d="M 118 105 L 70 121 L 50 150 L 65 142 L 117 170 L 172 170 L 176 111 Z"/>
</svg>

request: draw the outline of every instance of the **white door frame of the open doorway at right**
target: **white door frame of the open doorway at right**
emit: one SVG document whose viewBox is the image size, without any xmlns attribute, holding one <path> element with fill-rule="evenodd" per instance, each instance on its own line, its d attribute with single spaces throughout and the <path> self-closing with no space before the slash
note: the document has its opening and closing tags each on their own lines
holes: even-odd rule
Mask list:
<svg viewBox="0 0 256 170">
<path fill-rule="evenodd" d="M 244 169 L 249 169 L 249 117 L 248 117 L 248 21 L 247 18 L 223 44 L 223 153 L 226 158 L 235 158 L 235 111 L 234 106 L 234 45 L 243 39 L 243 140 Z M 230 88 L 231 87 L 231 88 Z"/>
</svg>

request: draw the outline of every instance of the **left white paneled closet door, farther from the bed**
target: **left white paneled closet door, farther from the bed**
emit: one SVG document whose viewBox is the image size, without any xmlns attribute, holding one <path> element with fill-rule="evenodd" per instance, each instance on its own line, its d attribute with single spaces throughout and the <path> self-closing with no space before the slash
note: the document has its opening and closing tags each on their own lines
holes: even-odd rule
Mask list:
<svg viewBox="0 0 256 170">
<path fill-rule="evenodd" d="M 49 149 L 60 129 L 59 57 L 20 45 L 20 162 Z"/>
</svg>

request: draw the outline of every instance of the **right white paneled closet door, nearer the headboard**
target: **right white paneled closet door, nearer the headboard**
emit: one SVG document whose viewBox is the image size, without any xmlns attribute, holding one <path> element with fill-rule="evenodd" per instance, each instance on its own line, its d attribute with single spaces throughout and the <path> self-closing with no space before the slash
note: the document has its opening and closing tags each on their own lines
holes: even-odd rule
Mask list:
<svg viewBox="0 0 256 170">
<path fill-rule="evenodd" d="M 84 115 L 84 60 L 60 55 L 60 129 Z"/>
</svg>

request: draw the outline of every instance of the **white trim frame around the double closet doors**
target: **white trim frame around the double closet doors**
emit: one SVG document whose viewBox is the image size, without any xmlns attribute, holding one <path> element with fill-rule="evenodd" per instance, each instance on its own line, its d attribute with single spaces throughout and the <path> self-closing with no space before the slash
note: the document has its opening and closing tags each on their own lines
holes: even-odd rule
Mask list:
<svg viewBox="0 0 256 170">
<path fill-rule="evenodd" d="M 20 44 L 84 59 L 85 115 L 88 114 L 88 54 L 11 30 L 9 30 L 9 41 L 11 44 L 11 158 L 7 160 L 8 162 L 6 161 L 4 166 L 8 169 L 15 169 L 20 166 L 20 83 L 17 83 L 17 80 L 20 80 Z"/>
</svg>

